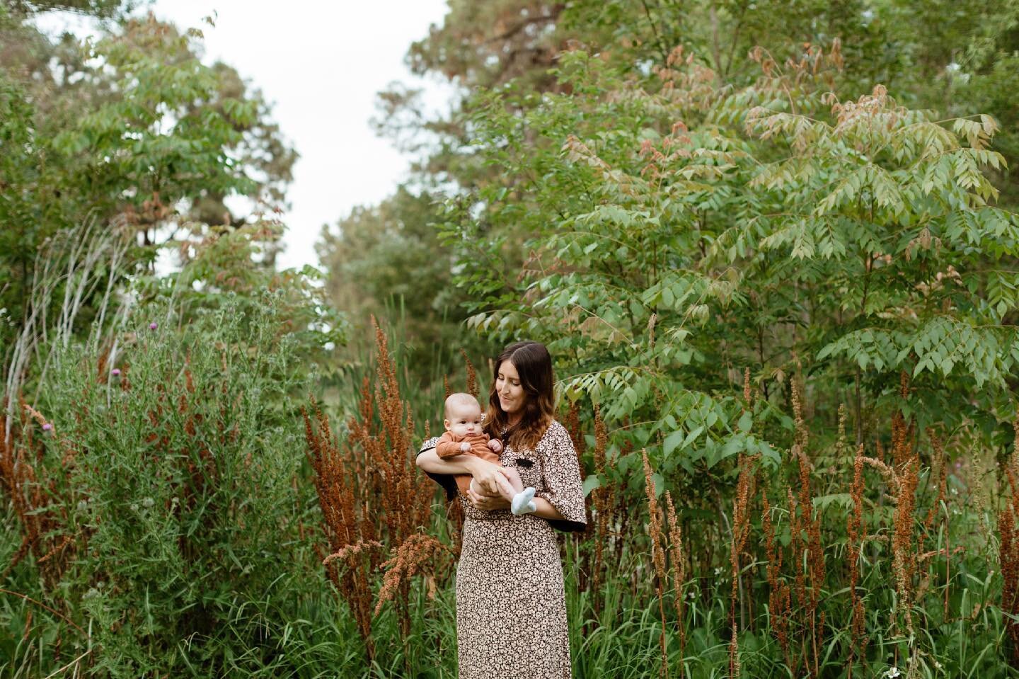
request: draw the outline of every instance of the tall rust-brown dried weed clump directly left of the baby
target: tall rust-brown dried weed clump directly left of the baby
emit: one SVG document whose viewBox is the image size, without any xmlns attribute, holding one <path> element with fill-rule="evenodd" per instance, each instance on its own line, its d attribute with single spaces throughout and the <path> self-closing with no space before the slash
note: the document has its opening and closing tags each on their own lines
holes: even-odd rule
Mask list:
<svg viewBox="0 0 1019 679">
<path fill-rule="evenodd" d="M 312 400 L 314 420 L 305 413 L 309 458 L 322 509 L 330 579 L 351 607 L 369 655 L 374 654 L 371 619 L 392 600 L 400 634 L 411 634 L 411 578 L 426 572 L 439 551 L 420 528 L 429 523 L 432 487 L 412 457 L 415 438 L 410 406 L 403 400 L 388 341 L 375 319 L 374 388 L 362 382 L 358 413 L 347 421 L 343 445 L 332 436 L 328 419 Z M 379 553 L 389 557 L 379 563 Z M 337 572 L 336 562 L 345 568 Z M 385 571 L 374 609 L 371 583 L 377 568 Z"/>
</svg>

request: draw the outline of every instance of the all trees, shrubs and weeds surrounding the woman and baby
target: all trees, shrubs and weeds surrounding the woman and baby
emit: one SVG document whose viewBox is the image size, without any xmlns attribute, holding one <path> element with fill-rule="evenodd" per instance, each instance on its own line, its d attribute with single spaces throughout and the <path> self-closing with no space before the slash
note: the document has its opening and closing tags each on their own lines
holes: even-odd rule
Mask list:
<svg viewBox="0 0 1019 679">
<path fill-rule="evenodd" d="M 1019 675 L 1019 4 L 450 0 L 324 275 L 201 40 L 0 4 L 0 676 L 455 676 L 413 453 L 523 337 L 577 676 Z"/>
</svg>

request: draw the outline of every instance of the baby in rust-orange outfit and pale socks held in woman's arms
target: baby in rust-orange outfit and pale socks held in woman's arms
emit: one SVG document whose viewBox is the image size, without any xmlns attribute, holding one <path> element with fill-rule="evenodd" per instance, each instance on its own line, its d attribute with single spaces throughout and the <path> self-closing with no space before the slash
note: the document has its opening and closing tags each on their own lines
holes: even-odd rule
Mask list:
<svg viewBox="0 0 1019 679">
<path fill-rule="evenodd" d="M 482 460 L 499 464 L 498 453 L 502 443 L 496 438 L 488 439 L 488 434 L 481 430 L 481 406 L 478 400 L 470 394 L 451 394 L 445 403 L 445 420 L 442 422 L 445 433 L 435 445 L 435 454 L 445 460 L 457 455 L 475 455 Z M 506 475 L 496 474 L 499 494 L 509 502 L 509 511 L 516 515 L 528 514 L 537 510 L 534 504 L 534 488 L 524 487 L 520 474 L 516 469 L 505 469 Z M 508 478 L 507 478 L 508 477 Z M 457 486 L 461 493 L 467 494 L 472 488 L 481 494 L 481 488 L 470 474 L 457 474 Z"/>
</svg>

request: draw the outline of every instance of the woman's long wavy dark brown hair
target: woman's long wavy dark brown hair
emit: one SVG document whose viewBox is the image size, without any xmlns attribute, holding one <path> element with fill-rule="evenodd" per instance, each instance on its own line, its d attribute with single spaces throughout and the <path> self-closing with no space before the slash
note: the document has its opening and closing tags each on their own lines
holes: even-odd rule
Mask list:
<svg viewBox="0 0 1019 679">
<path fill-rule="evenodd" d="M 509 361 L 517 368 L 520 384 L 526 396 L 524 416 L 512 427 L 507 425 L 509 416 L 499 406 L 499 397 L 495 391 L 495 380 L 499 376 L 499 367 L 503 361 Z M 518 342 L 503 349 L 495 359 L 495 367 L 492 370 L 485 433 L 499 438 L 503 437 L 502 430 L 506 429 L 504 443 L 516 449 L 533 449 L 555 417 L 554 384 L 552 357 L 548 355 L 548 350 L 543 344 Z"/>
</svg>

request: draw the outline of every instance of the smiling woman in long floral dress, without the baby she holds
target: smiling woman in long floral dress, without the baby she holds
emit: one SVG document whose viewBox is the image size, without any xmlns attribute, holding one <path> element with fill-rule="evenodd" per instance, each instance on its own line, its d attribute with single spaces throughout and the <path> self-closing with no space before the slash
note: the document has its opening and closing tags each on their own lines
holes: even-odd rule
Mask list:
<svg viewBox="0 0 1019 679">
<path fill-rule="evenodd" d="M 577 454 L 556 422 L 552 360 L 544 345 L 521 342 L 495 361 L 485 432 L 503 443 L 500 465 L 473 456 L 440 459 L 425 441 L 418 466 L 457 497 L 451 474 L 471 474 L 457 566 L 457 646 L 461 679 L 571 676 L 562 563 L 552 528 L 582 530 L 584 492 Z M 514 467 L 534 486 L 537 510 L 514 516 L 496 474 Z"/>
</svg>

